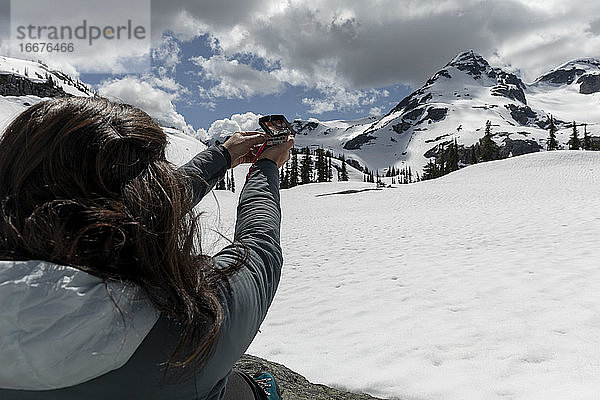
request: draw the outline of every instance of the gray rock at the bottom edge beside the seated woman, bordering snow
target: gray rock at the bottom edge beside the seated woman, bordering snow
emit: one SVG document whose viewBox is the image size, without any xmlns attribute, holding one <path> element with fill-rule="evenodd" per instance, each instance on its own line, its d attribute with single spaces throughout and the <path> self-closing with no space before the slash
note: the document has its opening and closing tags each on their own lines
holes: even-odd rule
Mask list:
<svg viewBox="0 0 600 400">
<path fill-rule="evenodd" d="M 258 372 L 272 373 L 280 388 L 283 389 L 283 400 L 381 400 L 364 393 L 351 393 L 311 383 L 305 377 L 284 365 L 249 354 L 244 354 L 233 367 L 246 372 L 250 376 Z"/>
</svg>

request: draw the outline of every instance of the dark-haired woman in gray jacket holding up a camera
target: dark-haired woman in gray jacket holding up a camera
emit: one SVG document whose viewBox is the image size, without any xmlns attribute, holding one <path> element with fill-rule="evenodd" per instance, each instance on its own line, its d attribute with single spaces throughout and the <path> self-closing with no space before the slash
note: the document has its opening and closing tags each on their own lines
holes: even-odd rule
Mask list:
<svg viewBox="0 0 600 400">
<path fill-rule="evenodd" d="M 64 98 L 19 115 L 0 139 L 0 398 L 251 393 L 231 367 L 279 282 L 293 139 L 261 153 L 214 257 L 192 209 L 262 142 L 236 133 L 176 169 L 135 107 Z"/>
</svg>

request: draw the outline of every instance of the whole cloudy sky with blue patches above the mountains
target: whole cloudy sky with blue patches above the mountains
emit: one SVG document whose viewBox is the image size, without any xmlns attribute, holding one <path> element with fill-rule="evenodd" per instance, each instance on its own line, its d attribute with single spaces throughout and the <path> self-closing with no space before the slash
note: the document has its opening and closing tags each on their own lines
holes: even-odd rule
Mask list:
<svg viewBox="0 0 600 400">
<path fill-rule="evenodd" d="M 246 129 L 256 114 L 325 120 L 385 113 L 467 49 L 526 82 L 574 58 L 600 58 L 597 0 L 151 6 L 151 73 L 81 78 L 190 131 L 209 130 L 215 121 L 213 129 Z"/>
</svg>

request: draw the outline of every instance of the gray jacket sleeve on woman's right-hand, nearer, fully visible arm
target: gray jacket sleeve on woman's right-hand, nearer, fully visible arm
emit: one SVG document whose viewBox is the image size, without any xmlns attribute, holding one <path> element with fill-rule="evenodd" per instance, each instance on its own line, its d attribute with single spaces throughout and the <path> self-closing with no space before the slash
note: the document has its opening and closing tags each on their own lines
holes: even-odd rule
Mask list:
<svg viewBox="0 0 600 400">
<path fill-rule="evenodd" d="M 239 262 L 243 267 L 222 288 L 225 319 L 215 359 L 223 371 L 246 351 L 271 305 L 283 265 L 280 245 L 281 209 L 277 165 L 268 159 L 255 164 L 240 194 L 235 238 L 213 259 L 217 268 Z"/>
</svg>

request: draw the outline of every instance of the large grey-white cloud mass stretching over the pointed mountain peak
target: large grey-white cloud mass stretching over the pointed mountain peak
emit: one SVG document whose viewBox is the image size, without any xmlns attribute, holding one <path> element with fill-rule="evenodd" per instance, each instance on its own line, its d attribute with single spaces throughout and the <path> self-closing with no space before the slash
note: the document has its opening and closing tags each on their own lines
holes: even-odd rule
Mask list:
<svg viewBox="0 0 600 400">
<path fill-rule="evenodd" d="M 188 14 L 181 28 L 169 10 L 177 6 Z M 192 35 L 196 21 L 196 30 L 210 35 L 218 53 L 206 65 L 214 96 L 278 93 L 273 78 L 317 90 L 416 86 L 469 48 L 518 66 L 529 80 L 566 60 L 599 55 L 596 0 L 185 0 L 155 8 L 166 13 L 155 22 L 159 29 Z M 240 54 L 275 68 L 235 64 Z"/>
</svg>

